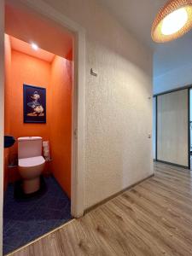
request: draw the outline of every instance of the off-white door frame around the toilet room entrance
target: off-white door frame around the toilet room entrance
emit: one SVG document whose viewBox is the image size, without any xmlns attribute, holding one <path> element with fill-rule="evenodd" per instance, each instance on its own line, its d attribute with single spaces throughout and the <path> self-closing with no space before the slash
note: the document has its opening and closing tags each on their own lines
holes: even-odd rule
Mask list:
<svg viewBox="0 0 192 256">
<path fill-rule="evenodd" d="M 4 0 L 11 4 L 22 4 L 27 9 L 32 9 L 39 15 L 60 24 L 63 28 L 73 32 L 74 56 L 73 56 L 73 124 L 72 124 L 72 178 L 71 178 L 71 213 L 74 218 L 84 215 L 84 119 L 85 119 L 85 30 L 67 16 L 53 9 L 42 0 Z M 3 5 L 4 7 L 4 5 Z M 1 28 L 0 28 L 1 29 Z M 4 29 L 4 28 L 3 28 Z M 2 65 L 2 63 L 1 63 Z M 3 89 L 4 84 L 1 82 Z M 0 109 L 3 103 L 0 103 Z M 2 112 L 3 113 L 3 112 Z M 1 115 L 2 116 L 2 115 Z M 3 115 L 4 118 L 4 115 Z M 3 122 L 0 118 L 0 124 Z M 3 141 L 1 125 L 1 141 Z M 0 144 L 2 153 L 3 144 Z M 2 157 L 2 155 L 1 155 Z M 1 160 L 1 159 L 0 159 Z M 3 169 L 2 169 L 3 170 Z M 2 171 L 3 172 L 3 171 Z M 2 175 L 2 173 L 1 173 Z M 2 177 L 3 178 L 3 177 Z M 3 185 L 3 181 L 1 181 Z M 1 186 L 2 188 L 2 186 Z M 3 201 L 3 194 L 1 201 Z M 1 205 L 1 207 L 3 207 Z"/>
</svg>

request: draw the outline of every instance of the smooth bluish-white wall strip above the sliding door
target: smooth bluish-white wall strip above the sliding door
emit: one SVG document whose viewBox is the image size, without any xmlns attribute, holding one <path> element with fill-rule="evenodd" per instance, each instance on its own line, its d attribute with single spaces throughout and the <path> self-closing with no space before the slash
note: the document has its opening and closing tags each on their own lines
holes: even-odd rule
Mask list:
<svg viewBox="0 0 192 256">
<path fill-rule="evenodd" d="M 154 77 L 154 94 L 192 84 L 192 62 Z"/>
</svg>

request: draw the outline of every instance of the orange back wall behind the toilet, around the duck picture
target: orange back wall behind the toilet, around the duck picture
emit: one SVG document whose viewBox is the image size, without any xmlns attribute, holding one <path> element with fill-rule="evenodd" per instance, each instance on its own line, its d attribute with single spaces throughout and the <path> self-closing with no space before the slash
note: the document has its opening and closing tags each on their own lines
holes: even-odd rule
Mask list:
<svg viewBox="0 0 192 256">
<path fill-rule="evenodd" d="M 49 104 L 47 104 L 46 124 L 23 123 L 23 84 L 32 84 L 47 89 L 47 102 L 49 102 L 49 74 L 50 64 L 30 55 L 12 50 L 11 62 L 11 88 L 10 96 L 10 134 L 14 137 L 40 136 L 49 139 Z M 17 152 L 17 143 L 10 152 Z"/>
</svg>

